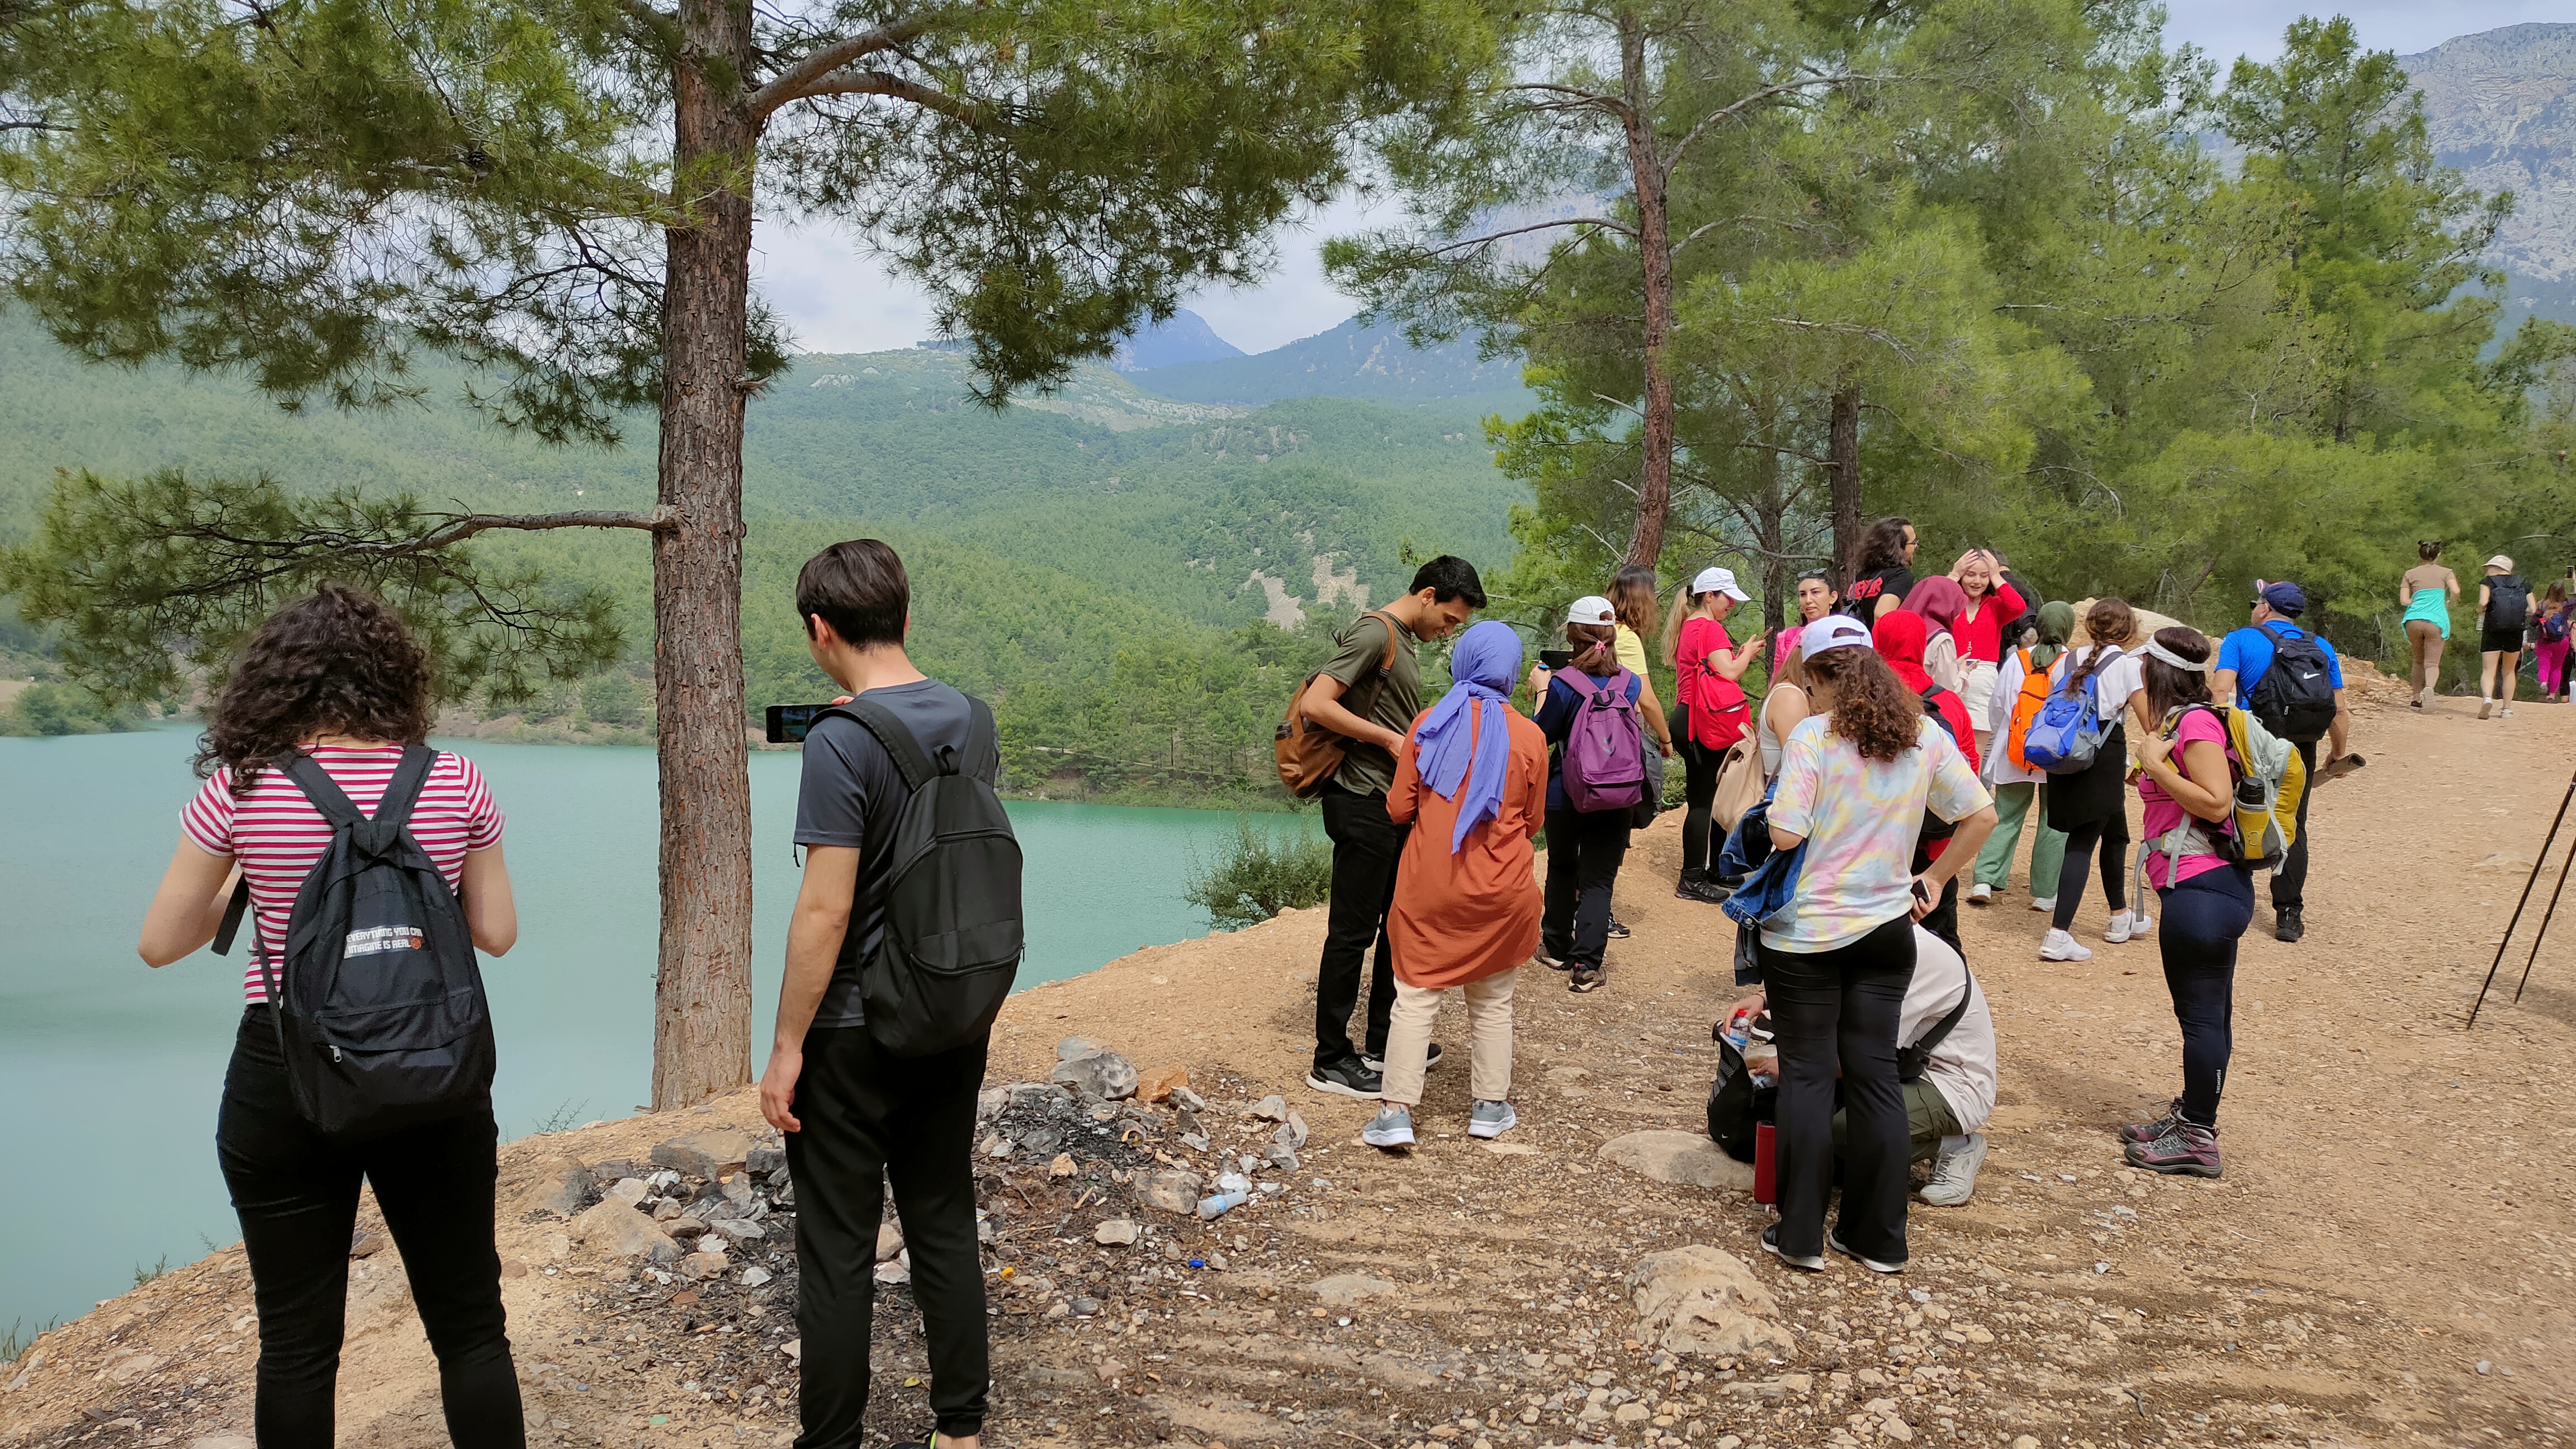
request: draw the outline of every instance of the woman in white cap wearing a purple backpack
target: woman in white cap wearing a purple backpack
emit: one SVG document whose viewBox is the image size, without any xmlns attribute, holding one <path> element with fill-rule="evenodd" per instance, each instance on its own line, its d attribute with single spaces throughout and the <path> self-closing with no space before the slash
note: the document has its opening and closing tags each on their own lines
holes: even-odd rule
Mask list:
<svg viewBox="0 0 2576 1449">
<path fill-rule="evenodd" d="M 1610 884 L 1628 853 L 1633 799 L 1646 779 L 1646 730 L 1638 724 L 1636 696 L 1643 683 L 1613 655 L 1618 611 L 1607 598 L 1587 593 L 1566 608 L 1566 645 L 1574 657 L 1556 670 L 1530 670 L 1530 696 L 1538 699 L 1538 730 L 1548 737 L 1548 884 L 1538 920 L 1538 959 L 1571 972 L 1571 990 L 1602 987 L 1602 954 L 1610 946 Z M 1595 714 L 1597 735 L 1574 743 L 1584 714 Z M 1602 758 L 1607 753 L 1615 758 Z M 1579 789 L 1566 786 L 1569 755 L 1584 768 Z M 1633 758 L 1631 758 L 1633 755 Z M 1633 781 L 1618 804 L 1577 810 L 1592 797 L 1592 784 Z"/>
</svg>

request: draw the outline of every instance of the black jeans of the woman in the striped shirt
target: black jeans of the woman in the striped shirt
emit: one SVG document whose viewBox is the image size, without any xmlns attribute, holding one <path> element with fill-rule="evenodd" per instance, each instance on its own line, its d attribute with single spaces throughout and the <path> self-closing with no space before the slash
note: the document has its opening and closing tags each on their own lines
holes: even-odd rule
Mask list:
<svg viewBox="0 0 2576 1449">
<path fill-rule="evenodd" d="M 358 1178 L 376 1189 L 420 1325 L 438 1354 L 448 1439 L 456 1449 L 528 1441 L 492 1245 L 500 1129 L 489 1101 L 448 1122 L 355 1147 L 332 1145 L 296 1111 L 276 1018 L 252 1006 L 232 1039 L 214 1150 L 242 1220 L 250 1294 L 260 1310 L 260 1449 L 332 1444 Z"/>
</svg>

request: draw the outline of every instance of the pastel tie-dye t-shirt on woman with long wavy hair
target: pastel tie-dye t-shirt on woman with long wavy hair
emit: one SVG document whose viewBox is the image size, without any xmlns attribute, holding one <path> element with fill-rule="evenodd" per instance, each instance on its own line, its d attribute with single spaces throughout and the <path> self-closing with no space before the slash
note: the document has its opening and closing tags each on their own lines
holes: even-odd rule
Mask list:
<svg viewBox="0 0 2576 1449">
<path fill-rule="evenodd" d="M 1914 835 L 1991 799 L 1947 732 L 1922 722 L 1919 748 L 1868 761 L 1832 717 L 1808 714 L 1780 748 L 1772 825 L 1806 835 L 1798 892 L 1762 923 L 1775 951 L 1832 951 L 1914 910 Z"/>
</svg>

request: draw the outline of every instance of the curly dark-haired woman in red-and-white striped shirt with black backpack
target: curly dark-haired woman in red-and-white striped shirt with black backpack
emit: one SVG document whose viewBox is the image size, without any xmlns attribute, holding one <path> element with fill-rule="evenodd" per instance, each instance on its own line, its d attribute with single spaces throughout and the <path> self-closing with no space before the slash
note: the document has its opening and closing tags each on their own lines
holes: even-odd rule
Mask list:
<svg viewBox="0 0 2576 1449">
<path fill-rule="evenodd" d="M 361 1145 L 325 1140 L 296 1111 L 263 972 L 283 954 L 296 892 L 332 841 L 281 761 L 309 755 L 374 815 L 404 745 L 425 740 L 430 704 L 430 660 L 384 601 L 325 583 L 278 608 L 242 645 L 209 714 L 196 755 L 206 786 L 180 815 L 178 853 L 144 915 L 139 951 L 165 967 L 214 938 L 234 879 L 250 884 L 247 1006 L 214 1145 L 260 1310 L 260 1449 L 332 1444 L 361 1178 L 376 1189 L 438 1354 L 448 1439 L 461 1449 L 526 1441 L 492 1243 L 492 1101 Z M 492 957 L 518 941 L 500 828 L 482 773 L 461 755 L 435 755 L 407 830 L 459 892 L 474 946 Z"/>
</svg>

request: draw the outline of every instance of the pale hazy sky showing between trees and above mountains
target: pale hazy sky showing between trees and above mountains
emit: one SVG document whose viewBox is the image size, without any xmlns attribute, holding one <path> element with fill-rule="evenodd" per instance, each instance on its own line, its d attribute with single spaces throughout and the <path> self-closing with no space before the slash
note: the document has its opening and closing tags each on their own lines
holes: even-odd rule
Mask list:
<svg viewBox="0 0 2576 1449">
<path fill-rule="evenodd" d="M 2166 0 L 2174 44 L 2195 44 L 2226 70 L 2239 54 L 2269 59 L 2282 28 L 2318 10 L 2344 13 L 2362 31 L 2362 44 L 2414 54 L 2450 36 L 2470 36 L 2524 21 L 2568 21 L 2568 0 L 2347 0 L 2336 8 L 2293 0 Z M 1229 343 L 1260 353 L 1296 338 L 1311 338 L 1355 312 L 1316 266 L 1316 245 L 1327 235 L 1368 224 L 1352 204 L 1280 237 L 1280 268 L 1260 289 L 1198 297 L 1190 309 Z M 796 345 L 804 351 L 866 353 L 909 348 L 930 335 L 930 309 L 917 291 L 891 281 L 858 253 L 845 235 L 824 227 L 786 229 L 765 224 L 757 237 L 760 286 L 788 315 Z"/>
</svg>

